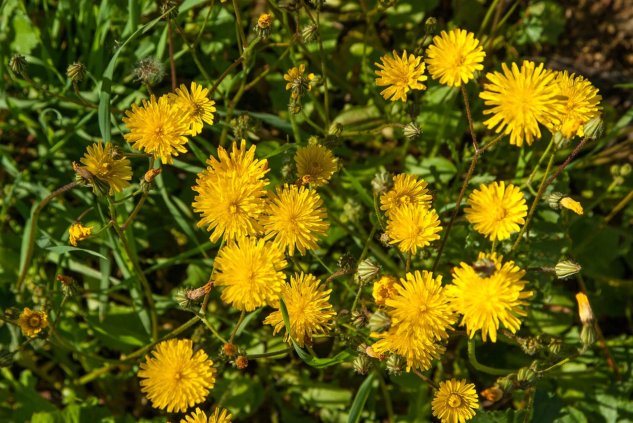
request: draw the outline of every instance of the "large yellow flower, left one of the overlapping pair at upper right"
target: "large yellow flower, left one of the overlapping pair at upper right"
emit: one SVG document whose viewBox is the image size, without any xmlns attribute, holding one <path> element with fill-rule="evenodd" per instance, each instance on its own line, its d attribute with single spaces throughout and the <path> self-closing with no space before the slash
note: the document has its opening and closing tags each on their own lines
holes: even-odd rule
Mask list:
<svg viewBox="0 0 633 423">
<path fill-rule="evenodd" d="M 541 125 L 553 129 L 560 125 L 560 116 L 564 110 L 565 97 L 558 95 L 558 89 L 551 82 L 555 73 L 536 66 L 534 62 L 523 61 L 519 69 L 512 63 L 512 69 L 501 64 L 503 74 L 494 71 L 487 73 L 490 83 L 484 84 L 484 91 L 479 97 L 485 100 L 486 106 L 494 106 L 484 110 L 484 114 L 492 114 L 484 122 L 488 129 L 498 126 L 496 132 L 504 130 L 510 134 L 510 144 L 532 145 L 534 138 L 541 138 Z"/>
</svg>

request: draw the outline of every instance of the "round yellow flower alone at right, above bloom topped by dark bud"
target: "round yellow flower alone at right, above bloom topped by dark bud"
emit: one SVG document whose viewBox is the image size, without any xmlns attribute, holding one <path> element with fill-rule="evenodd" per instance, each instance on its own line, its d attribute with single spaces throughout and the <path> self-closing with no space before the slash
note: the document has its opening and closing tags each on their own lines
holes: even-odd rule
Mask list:
<svg viewBox="0 0 633 423">
<path fill-rule="evenodd" d="M 505 240 L 510 233 L 519 230 L 525 223 L 527 205 L 518 187 L 505 182 L 483 183 L 468 197 L 470 207 L 464 209 L 466 218 L 475 226 L 475 231 L 490 237 L 490 240 Z"/>
</svg>

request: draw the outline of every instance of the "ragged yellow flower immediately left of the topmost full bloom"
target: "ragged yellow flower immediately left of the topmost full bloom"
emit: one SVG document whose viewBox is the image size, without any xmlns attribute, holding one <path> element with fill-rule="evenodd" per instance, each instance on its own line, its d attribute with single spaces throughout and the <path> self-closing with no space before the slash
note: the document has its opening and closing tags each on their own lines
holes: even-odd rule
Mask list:
<svg viewBox="0 0 633 423">
<path fill-rule="evenodd" d="M 406 93 L 409 90 L 425 90 L 427 87 L 423 85 L 423 81 L 429 79 L 424 73 L 425 64 L 421 57 L 409 55 L 406 58 L 406 50 L 402 54 L 402 58 L 398 56 L 398 53 L 393 51 L 394 57 L 389 57 L 385 54 L 380 58 L 382 64 L 374 63 L 381 70 L 375 71 L 376 75 L 380 78 L 376 78 L 376 85 L 387 88 L 380 92 L 380 95 L 388 99 L 391 97 L 391 101 L 402 100 L 406 101 Z"/>
</svg>

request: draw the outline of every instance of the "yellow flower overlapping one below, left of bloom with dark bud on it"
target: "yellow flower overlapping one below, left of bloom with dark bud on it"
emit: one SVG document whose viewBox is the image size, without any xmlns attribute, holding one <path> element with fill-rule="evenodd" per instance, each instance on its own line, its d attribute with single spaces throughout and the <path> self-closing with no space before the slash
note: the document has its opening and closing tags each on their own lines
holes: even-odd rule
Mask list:
<svg viewBox="0 0 633 423">
<path fill-rule="evenodd" d="M 385 302 L 391 307 L 387 312 L 399 331 L 418 333 L 424 338 L 441 340 L 448 338 L 446 329 L 457 321 L 450 309 L 449 297 L 442 288 L 442 276 L 427 271 L 407 273 L 396 285 L 398 295 Z"/>
</svg>

